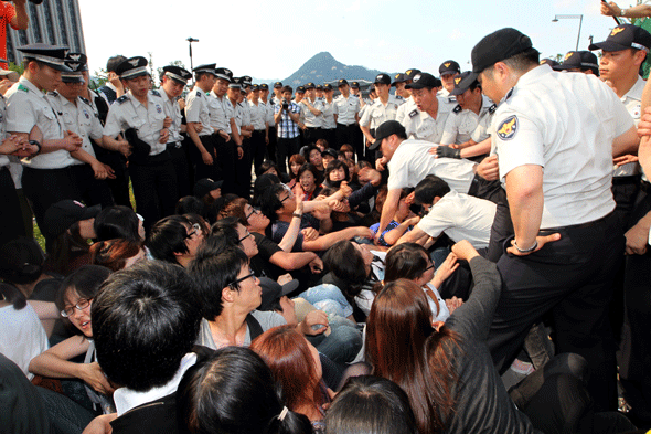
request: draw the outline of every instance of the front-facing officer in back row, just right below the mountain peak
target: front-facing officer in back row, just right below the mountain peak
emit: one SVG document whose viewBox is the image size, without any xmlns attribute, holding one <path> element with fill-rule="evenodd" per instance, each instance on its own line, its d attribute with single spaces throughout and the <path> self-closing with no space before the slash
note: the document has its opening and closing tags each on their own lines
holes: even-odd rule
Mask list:
<svg viewBox="0 0 651 434">
<path fill-rule="evenodd" d="M 348 80 L 341 78 L 337 82 L 341 95 L 334 98 L 334 121 L 337 123 L 337 148 L 342 145 L 351 145 L 355 149 L 357 160 L 364 156 L 363 144 L 355 142 L 355 129 L 359 129 L 360 98 L 350 93 Z M 329 144 L 332 147 L 332 144 Z"/>
</svg>

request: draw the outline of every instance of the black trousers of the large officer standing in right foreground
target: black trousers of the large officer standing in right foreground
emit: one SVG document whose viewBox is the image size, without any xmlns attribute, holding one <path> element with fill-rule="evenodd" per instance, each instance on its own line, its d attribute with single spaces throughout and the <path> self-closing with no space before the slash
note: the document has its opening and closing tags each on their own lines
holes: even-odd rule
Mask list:
<svg viewBox="0 0 651 434">
<path fill-rule="evenodd" d="M 488 339 L 500 372 L 509 369 L 529 329 L 547 311 L 557 352 L 583 356 L 590 367 L 588 391 L 598 411 L 617 409 L 615 341 L 608 320 L 615 272 L 625 239 L 613 213 L 590 224 L 549 233 L 561 240 L 527 256 L 503 254 L 503 289 Z"/>
</svg>

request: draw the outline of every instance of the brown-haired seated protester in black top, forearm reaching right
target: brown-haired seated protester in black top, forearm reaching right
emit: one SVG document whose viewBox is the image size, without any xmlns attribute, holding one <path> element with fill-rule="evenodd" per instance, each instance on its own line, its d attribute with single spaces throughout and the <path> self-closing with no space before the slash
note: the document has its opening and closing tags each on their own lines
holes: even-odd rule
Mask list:
<svg viewBox="0 0 651 434">
<path fill-rule="evenodd" d="M 298 203 L 302 202 L 297 201 L 297 212 L 300 212 Z M 267 276 L 277 280 L 282 274 L 295 272 L 306 265 L 310 267 L 312 273 L 320 273 L 323 269 L 323 263 L 316 253 L 291 252 L 296 240 L 284 239 L 280 244 L 277 244 L 265 236 L 265 231 L 270 223 L 269 219 L 259 210 L 254 209 L 246 199 L 237 198 L 231 201 L 222 209 L 221 214 L 246 222 L 246 230 L 253 235 L 258 248 L 257 255 L 250 257 L 250 267 L 257 276 Z M 300 219 L 292 219 L 292 223 L 294 220 L 298 226 Z M 288 235 L 291 235 L 290 231 L 286 233 L 285 237 Z M 300 280 L 300 276 L 297 278 Z"/>
</svg>

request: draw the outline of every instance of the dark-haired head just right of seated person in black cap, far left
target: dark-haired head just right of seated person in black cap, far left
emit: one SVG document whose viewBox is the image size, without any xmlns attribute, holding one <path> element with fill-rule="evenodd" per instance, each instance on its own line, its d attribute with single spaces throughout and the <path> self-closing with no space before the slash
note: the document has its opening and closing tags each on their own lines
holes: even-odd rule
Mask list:
<svg viewBox="0 0 651 434">
<path fill-rule="evenodd" d="M 115 205 L 99 211 L 93 223 L 96 241 L 115 239 L 145 241 L 143 219 L 128 207 Z"/>
</svg>

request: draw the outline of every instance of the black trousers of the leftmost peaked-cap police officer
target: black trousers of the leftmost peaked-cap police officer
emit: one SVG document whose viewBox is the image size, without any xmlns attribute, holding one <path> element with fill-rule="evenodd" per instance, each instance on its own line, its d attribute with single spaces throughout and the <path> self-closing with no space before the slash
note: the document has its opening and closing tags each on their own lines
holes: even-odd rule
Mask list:
<svg viewBox="0 0 651 434">
<path fill-rule="evenodd" d="M 36 223 L 44 230 L 44 216 L 47 209 L 64 199 L 82 200 L 79 189 L 75 183 L 73 169 L 32 169 L 23 167 L 22 189 L 32 205 Z M 47 242 L 47 236 L 45 237 Z"/>
</svg>

